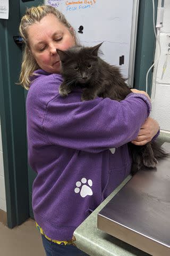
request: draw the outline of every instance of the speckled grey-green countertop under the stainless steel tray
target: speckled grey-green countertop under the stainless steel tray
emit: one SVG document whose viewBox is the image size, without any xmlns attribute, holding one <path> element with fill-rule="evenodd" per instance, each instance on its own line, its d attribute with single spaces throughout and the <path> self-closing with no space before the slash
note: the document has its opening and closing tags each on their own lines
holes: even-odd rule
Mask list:
<svg viewBox="0 0 170 256">
<path fill-rule="evenodd" d="M 160 132 L 158 143 L 163 145 L 164 142 L 170 143 L 170 133 Z M 149 254 L 143 252 L 130 244 L 127 244 L 120 239 L 97 228 L 97 214 L 104 208 L 104 206 L 111 201 L 111 199 L 124 187 L 124 185 L 132 178 L 129 175 L 120 186 L 118 186 L 109 195 L 97 209 L 90 214 L 90 216 L 83 221 L 83 223 L 74 231 L 77 247 L 89 254 L 90 256 L 148 256 Z"/>
</svg>

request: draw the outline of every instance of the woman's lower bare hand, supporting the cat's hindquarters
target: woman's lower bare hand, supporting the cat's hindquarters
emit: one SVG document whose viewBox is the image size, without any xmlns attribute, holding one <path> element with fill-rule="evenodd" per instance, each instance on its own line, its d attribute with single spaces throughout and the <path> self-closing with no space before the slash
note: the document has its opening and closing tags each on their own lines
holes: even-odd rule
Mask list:
<svg viewBox="0 0 170 256">
<path fill-rule="evenodd" d="M 138 137 L 135 138 L 135 140 L 132 140 L 131 142 L 134 145 L 143 146 L 149 141 L 151 141 L 158 131 L 159 131 L 158 122 L 152 119 L 151 117 L 148 117 L 145 123 L 141 126 Z"/>
</svg>

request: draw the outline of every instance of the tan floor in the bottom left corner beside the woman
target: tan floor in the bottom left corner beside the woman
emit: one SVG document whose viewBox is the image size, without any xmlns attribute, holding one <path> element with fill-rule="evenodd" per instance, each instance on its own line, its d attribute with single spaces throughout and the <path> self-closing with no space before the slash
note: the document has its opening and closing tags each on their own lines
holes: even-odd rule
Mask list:
<svg viewBox="0 0 170 256">
<path fill-rule="evenodd" d="M 45 256 L 41 235 L 35 221 L 28 219 L 22 225 L 9 229 L 0 222 L 0 248 L 3 256 Z"/>
</svg>

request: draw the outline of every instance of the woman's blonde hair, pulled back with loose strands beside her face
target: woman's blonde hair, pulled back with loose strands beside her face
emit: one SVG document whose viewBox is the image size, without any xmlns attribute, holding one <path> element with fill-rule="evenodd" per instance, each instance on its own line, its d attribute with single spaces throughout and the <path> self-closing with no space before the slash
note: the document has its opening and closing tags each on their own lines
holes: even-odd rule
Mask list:
<svg viewBox="0 0 170 256">
<path fill-rule="evenodd" d="M 31 83 L 31 76 L 33 72 L 39 68 L 35 58 L 31 54 L 29 41 L 28 41 L 28 27 L 33 25 L 36 21 L 40 21 L 47 14 L 54 14 L 56 19 L 60 21 L 65 27 L 67 27 L 74 38 L 75 44 L 77 44 L 77 38 L 75 36 L 75 31 L 67 22 L 64 15 L 55 9 L 55 7 L 49 5 L 39 5 L 38 7 L 31 7 L 26 10 L 25 15 L 21 19 L 19 31 L 24 42 L 24 50 L 22 55 L 22 65 L 21 73 L 19 78 L 19 84 L 21 84 L 25 89 L 29 90 Z"/>
</svg>

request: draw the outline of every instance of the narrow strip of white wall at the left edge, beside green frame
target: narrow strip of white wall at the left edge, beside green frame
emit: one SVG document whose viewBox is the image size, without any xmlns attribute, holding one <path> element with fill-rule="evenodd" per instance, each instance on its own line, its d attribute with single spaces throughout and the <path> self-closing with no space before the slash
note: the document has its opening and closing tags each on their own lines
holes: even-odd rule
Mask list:
<svg viewBox="0 0 170 256">
<path fill-rule="evenodd" d="M 2 149 L 1 119 L 0 119 L 0 209 L 6 212 L 4 162 Z"/>
</svg>

